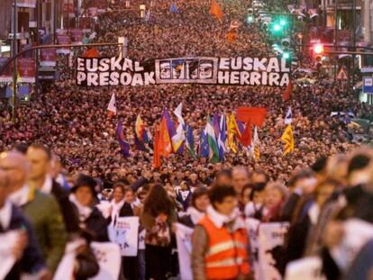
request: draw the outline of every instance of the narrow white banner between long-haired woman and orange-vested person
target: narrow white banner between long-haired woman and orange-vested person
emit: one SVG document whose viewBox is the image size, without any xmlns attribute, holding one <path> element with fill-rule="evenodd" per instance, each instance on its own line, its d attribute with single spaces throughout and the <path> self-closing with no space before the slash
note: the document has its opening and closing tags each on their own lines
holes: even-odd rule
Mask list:
<svg viewBox="0 0 373 280">
<path fill-rule="evenodd" d="M 193 280 L 190 254 L 192 253 L 192 234 L 194 230 L 178 222 L 176 226 L 177 255 L 178 266 L 180 267 L 180 278 L 182 280 Z"/>
</svg>

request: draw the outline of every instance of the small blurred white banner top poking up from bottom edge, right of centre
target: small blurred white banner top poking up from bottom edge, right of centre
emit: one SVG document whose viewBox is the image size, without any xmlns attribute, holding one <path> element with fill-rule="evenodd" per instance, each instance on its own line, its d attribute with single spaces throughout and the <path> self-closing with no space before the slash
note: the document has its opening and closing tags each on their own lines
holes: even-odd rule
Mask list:
<svg viewBox="0 0 373 280">
<path fill-rule="evenodd" d="M 305 257 L 287 265 L 285 280 L 326 280 L 322 273 L 323 262 L 320 257 Z"/>
</svg>

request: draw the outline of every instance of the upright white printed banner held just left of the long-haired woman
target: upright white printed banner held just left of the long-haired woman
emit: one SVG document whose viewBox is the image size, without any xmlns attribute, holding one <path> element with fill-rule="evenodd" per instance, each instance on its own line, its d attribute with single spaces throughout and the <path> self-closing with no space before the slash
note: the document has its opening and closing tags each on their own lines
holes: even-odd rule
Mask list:
<svg viewBox="0 0 373 280">
<path fill-rule="evenodd" d="M 122 256 L 136 257 L 139 242 L 139 217 L 119 217 L 114 225 L 114 243 Z"/>
</svg>

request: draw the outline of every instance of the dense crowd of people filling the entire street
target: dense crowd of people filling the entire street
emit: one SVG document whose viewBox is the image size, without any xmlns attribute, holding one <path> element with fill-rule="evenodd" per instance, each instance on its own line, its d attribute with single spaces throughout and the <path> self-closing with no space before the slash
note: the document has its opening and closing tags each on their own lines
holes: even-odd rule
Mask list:
<svg viewBox="0 0 373 280">
<path fill-rule="evenodd" d="M 180 0 L 177 13 L 171 13 L 169 3 L 152 1 L 146 19 L 133 11 L 115 12 L 121 5 L 98 16 L 96 42 L 125 36 L 127 56 L 134 60 L 274 55 L 262 25 L 243 23 L 245 3 L 223 5 L 223 22 L 209 14 L 208 2 Z M 227 42 L 233 20 L 242 24 L 236 41 Z M 114 56 L 118 50 L 99 51 Z M 244 219 L 289 223 L 275 259 L 279 275 L 285 275 L 288 263 L 317 256 L 327 279 L 373 277 L 373 237 L 349 261 L 336 253 L 350 237 L 344 228 L 348 221 L 371 226 L 373 153 L 357 149 L 347 118 L 331 116 L 368 117 L 371 106 L 317 73 L 313 86 L 295 85 L 287 102 L 281 99 L 285 89 L 271 86 L 79 87 L 67 60 L 59 56 L 59 80 L 28 106 L 18 107 L 16 122 L 6 110 L 0 112 L 0 237 L 15 230 L 17 240 L 11 248 L 15 264 L 6 279 L 23 273 L 50 279 L 67 244 L 77 240 L 82 245 L 73 275 L 95 276 L 100 267 L 90 242 L 110 241 L 108 228 L 118 217 L 132 216 L 140 218 L 139 233 L 146 230 L 145 248 L 136 257 L 123 257 L 121 278 L 177 276 L 178 222 L 196 233 L 191 244 L 195 280 L 265 279 L 254 265 L 258 256 Z M 306 58 L 298 66 L 314 68 Z M 108 118 L 111 93 L 118 113 Z M 152 154 L 134 149 L 136 117 L 141 115 L 153 134 L 164 108 L 172 112 L 180 103 L 196 146 L 209 115 L 229 114 L 239 106 L 267 108 L 265 125 L 258 130 L 259 160 L 239 149 L 212 164 L 185 150 L 163 158 L 154 169 Z M 296 149 L 284 156 L 280 138 L 290 106 Z M 118 121 L 132 147 L 128 158 L 116 140 Z M 224 242 L 231 247 L 219 248 Z M 233 264 L 222 265 L 232 257 Z"/>
</svg>

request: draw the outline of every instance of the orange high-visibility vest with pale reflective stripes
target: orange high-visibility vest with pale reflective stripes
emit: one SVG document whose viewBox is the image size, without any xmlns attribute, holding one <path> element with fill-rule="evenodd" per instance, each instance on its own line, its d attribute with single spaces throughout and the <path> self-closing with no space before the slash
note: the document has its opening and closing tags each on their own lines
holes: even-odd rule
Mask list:
<svg viewBox="0 0 373 280">
<path fill-rule="evenodd" d="M 233 279 L 240 273 L 249 274 L 246 230 L 230 232 L 226 226 L 217 228 L 208 216 L 198 224 L 204 227 L 208 237 L 208 250 L 205 255 L 207 279 Z"/>
</svg>

